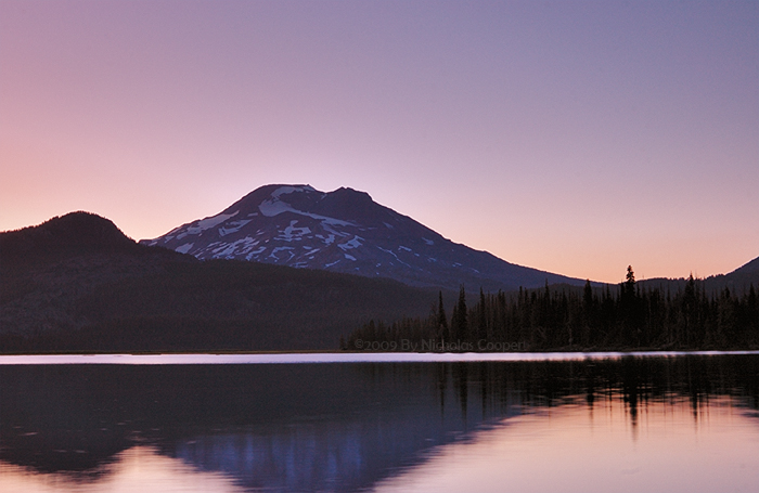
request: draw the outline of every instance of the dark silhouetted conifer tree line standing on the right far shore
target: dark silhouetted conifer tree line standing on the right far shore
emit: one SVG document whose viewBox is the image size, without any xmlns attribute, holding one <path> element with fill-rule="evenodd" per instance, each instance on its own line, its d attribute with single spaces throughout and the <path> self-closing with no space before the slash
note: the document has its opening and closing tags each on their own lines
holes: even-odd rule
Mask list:
<svg viewBox="0 0 759 493">
<path fill-rule="evenodd" d="M 513 351 L 546 349 L 746 349 L 759 347 L 759 298 L 752 284 L 742 293 L 707 293 L 691 275 L 672 290 L 626 281 L 582 289 L 519 288 L 485 294 L 467 307 L 462 286 L 448 316 L 439 294 L 427 317 L 390 324 L 370 321 L 340 339 L 348 350 Z"/>
</svg>

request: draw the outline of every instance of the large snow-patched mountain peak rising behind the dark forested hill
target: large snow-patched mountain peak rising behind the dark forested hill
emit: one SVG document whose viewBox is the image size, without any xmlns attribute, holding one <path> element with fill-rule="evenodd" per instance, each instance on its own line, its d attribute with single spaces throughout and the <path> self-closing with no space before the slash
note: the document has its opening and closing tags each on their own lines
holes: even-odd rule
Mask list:
<svg viewBox="0 0 759 493">
<path fill-rule="evenodd" d="M 369 194 L 345 187 L 324 193 L 310 185 L 261 186 L 216 216 L 140 243 L 203 260 L 323 269 L 411 286 L 509 290 L 584 283 L 453 243 Z"/>
</svg>

